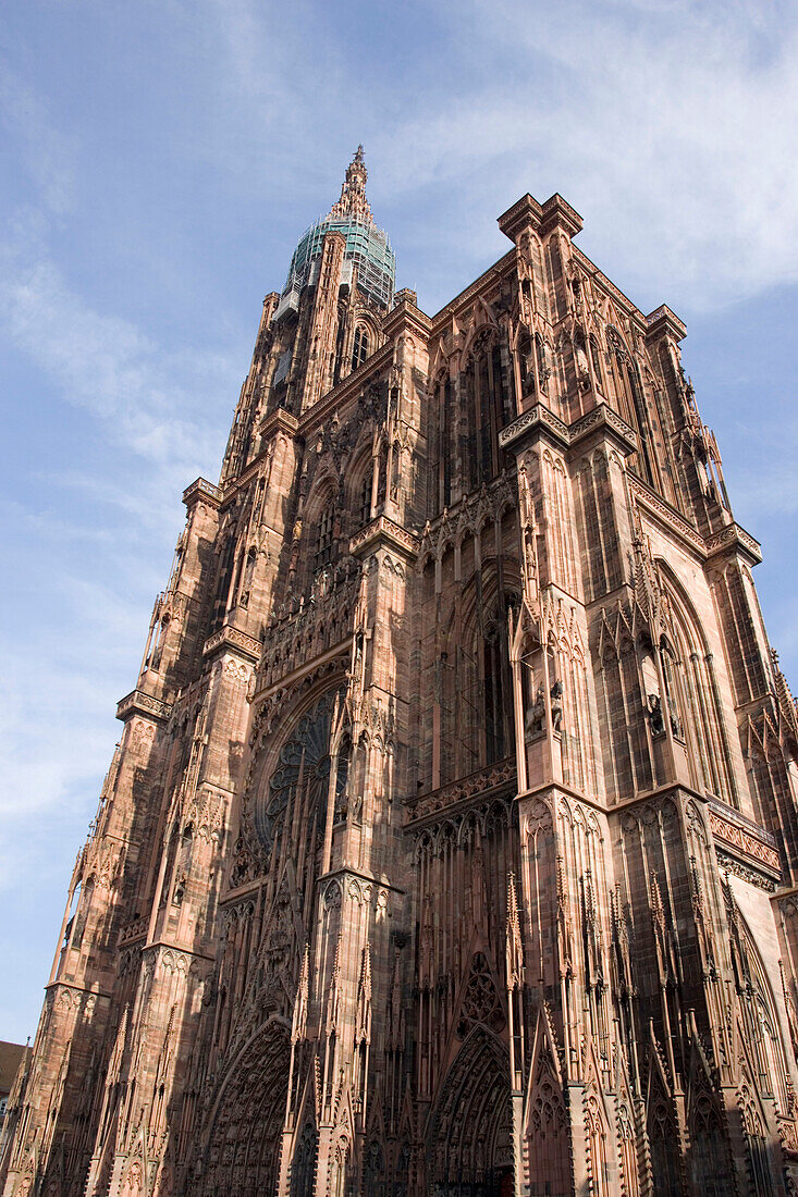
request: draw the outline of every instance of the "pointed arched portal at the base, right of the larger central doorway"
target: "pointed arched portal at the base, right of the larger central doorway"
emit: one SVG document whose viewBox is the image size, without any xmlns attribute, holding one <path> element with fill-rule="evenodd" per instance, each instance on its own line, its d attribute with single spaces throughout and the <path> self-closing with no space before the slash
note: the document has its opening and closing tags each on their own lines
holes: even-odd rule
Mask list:
<svg viewBox="0 0 798 1197">
<path fill-rule="evenodd" d="M 476 1028 L 443 1083 L 428 1138 L 436 1197 L 503 1197 L 513 1175 L 507 1052 Z M 512 1190 L 510 1190 L 512 1191 Z"/>
</svg>

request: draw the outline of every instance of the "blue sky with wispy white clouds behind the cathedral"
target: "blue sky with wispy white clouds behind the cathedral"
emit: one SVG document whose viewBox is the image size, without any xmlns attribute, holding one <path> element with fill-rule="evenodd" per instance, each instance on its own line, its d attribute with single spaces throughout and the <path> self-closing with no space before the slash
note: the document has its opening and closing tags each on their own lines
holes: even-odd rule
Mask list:
<svg viewBox="0 0 798 1197">
<path fill-rule="evenodd" d="M 687 323 L 798 688 L 798 8 L 690 0 L 0 6 L 0 1039 L 36 1029 L 182 490 L 358 142 L 429 314 L 560 192 Z"/>
</svg>

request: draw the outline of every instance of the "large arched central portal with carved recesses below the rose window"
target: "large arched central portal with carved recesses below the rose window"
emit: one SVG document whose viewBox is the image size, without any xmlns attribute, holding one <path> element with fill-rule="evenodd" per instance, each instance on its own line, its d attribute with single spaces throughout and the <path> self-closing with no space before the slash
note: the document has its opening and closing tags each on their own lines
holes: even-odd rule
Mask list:
<svg viewBox="0 0 798 1197">
<path fill-rule="evenodd" d="M 206 1197 L 276 1191 L 289 1059 L 288 1028 L 271 1019 L 228 1073 L 211 1128 Z"/>
</svg>

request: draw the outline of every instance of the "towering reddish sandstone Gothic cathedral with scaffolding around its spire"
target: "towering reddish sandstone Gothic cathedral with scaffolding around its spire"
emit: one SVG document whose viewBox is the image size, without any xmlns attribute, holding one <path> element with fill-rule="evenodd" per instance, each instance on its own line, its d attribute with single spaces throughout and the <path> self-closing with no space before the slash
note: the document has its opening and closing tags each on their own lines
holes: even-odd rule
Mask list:
<svg viewBox="0 0 798 1197">
<path fill-rule="evenodd" d="M 362 147 L 155 602 L 5 1197 L 798 1193 L 798 718 L 679 353 L 524 195 L 435 316 Z"/>
</svg>

